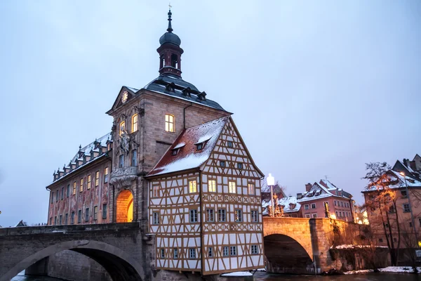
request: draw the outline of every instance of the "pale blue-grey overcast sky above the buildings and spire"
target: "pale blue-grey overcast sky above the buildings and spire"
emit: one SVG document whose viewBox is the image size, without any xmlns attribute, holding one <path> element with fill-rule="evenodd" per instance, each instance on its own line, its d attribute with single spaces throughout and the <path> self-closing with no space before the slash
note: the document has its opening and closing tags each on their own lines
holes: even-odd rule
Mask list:
<svg viewBox="0 0 421 281">
<path fill-rule="evenodd" d="M 421 2 L 172 1 L 182 77 L 260 169 L 362 202 L 366 162 L 421 153 Z M 0 1 L 0 226 L 47 221 L 53 171 L 158 76 L 168 1 Z"/>
</svg>

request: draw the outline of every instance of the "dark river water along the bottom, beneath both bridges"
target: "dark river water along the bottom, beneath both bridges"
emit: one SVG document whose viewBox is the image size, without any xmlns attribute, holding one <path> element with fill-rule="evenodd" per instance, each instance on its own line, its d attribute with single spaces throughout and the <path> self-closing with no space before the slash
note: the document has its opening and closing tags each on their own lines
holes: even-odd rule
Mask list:
<svg viewBox="0 0 421 281">
<path fill-rule="evenodd" d="M 17 275 L 12 281 L 58 281 L 60 279 L 51 277 L 29 277 Z M 314 275 L 280 275 L 258 272 L 255 273 L 255 281 L 421 281 L 421 274 L 408 273 L 368 273 L 349 274 L 336 276 L 314 276 Z"/>
</svg>

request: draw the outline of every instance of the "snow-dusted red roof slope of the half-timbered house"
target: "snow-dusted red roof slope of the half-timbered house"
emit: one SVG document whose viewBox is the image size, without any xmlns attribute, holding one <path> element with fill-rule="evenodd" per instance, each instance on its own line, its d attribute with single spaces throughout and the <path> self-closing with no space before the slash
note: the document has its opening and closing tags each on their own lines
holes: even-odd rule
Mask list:
<svg viewBox="0 0 421 281">
<path fill-rule="evenodd" d="M 222 117 L 185 129 L 159 160 L 154 169 L 149 172 L 148 176 L 168 174 L 201 166 L 210 157 L 210 153 L 213 151 L 228 119 L 229 117 Z M 203 140 L 204 136 L 206 136 L 208 141 L 201 150 L 196 150 L 196 143 Z M 171 150 L 174 150 L 174 148 L 180 148 L 177 155 L 171 155 Z"/>
</svg>

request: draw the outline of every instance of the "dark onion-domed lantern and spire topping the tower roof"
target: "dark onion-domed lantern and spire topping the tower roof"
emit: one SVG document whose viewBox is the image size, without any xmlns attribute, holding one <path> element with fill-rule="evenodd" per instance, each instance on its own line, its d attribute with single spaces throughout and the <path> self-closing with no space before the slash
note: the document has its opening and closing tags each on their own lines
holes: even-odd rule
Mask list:
<svg viewBox="0 0 421 281">
<path fill-rule="evenodd" d="M 159 39 L 159 48 L 156 51 L 159 53 L 159 74 L 173 74 L 181 77 L 181 55 L 184 52 L 180 48 L 181 40 L 173 33 L 171 27 L 171 9 L 168 11 L 168 28 Z"/>
</svg>

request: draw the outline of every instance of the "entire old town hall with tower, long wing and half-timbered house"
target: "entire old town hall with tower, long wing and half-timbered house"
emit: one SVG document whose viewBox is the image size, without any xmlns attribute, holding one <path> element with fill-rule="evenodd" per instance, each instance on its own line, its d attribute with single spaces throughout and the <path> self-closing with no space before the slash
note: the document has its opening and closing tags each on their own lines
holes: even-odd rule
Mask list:
<svg viewBox="0 0 421 281">
<path fill-rule="evenodd" d="M 161 270 L 211 275 L 264 265 L 260 179 L 232 113 L 182 79 L 181 40 L 159 39 L 159 76 L 123 86 L 111 133 L 55 171 L 48 224 L 138 221 Z"/>
</svg>

